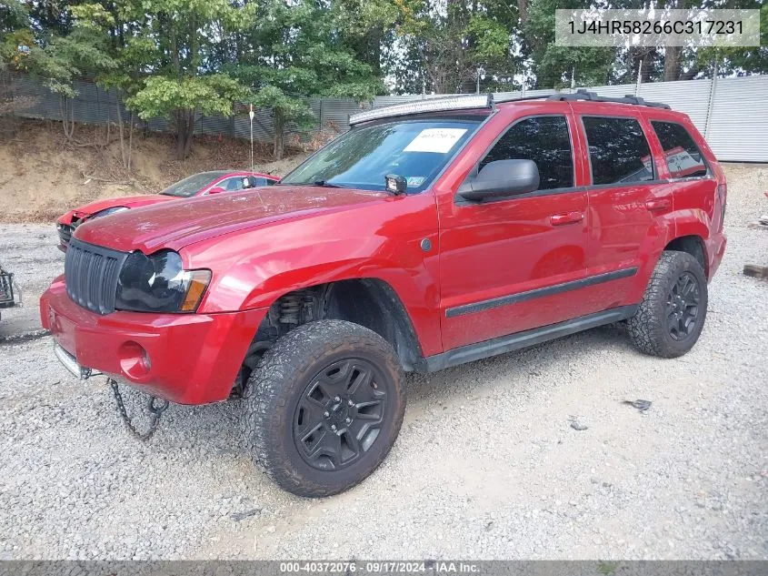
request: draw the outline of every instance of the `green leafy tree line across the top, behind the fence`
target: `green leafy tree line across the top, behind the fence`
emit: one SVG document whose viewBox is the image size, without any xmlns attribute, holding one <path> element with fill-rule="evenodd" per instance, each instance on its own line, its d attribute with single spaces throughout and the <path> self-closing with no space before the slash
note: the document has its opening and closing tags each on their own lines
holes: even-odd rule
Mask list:
<svg viewBox="0 0 768 576">
<path fill-rule="evenodd" d="M 605 8 L 650 0 L 601 0 Z M 554 11 L 590 0 L 5 0 L 0 73 L 25 71 L 66 100 L 73 80 L 115 88 L 132 114 L 175 126 L 190 153 L 197 113 L 228 115 L 235 102 L 284 130 L 314 126 L 310 96 L 366 102 L 390 92 L 453 93 L 560 88 L 768 72 L 754 48 L 569 48 L 554 45 Z M 733 7 L 733 0 L 661 0 L 655 6 Z M 122 116 L 118 109 L 122 137 Z M 63 115 L 63 119 L 66 115 Z M 322 126 L 321 126 L 322 129 Z"/>
</svg>

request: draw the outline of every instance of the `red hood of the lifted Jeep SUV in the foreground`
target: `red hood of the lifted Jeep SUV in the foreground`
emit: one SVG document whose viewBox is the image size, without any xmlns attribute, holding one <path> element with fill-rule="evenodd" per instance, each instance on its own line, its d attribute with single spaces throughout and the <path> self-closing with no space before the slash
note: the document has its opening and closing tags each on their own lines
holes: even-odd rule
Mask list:
<svg viewBox="0 0 768 576">
<path fill-rule="evenodd" d="M 77 227 L 75 237 L 116 250 L 151 254 L 179 250 L 211 237 L 262 226 L 289 217 L 381 202 L 390 195 L 368 190 L 324 187 L 260 187 L 243 192 L 163 202 L 126 210 Z"/>
</svg>

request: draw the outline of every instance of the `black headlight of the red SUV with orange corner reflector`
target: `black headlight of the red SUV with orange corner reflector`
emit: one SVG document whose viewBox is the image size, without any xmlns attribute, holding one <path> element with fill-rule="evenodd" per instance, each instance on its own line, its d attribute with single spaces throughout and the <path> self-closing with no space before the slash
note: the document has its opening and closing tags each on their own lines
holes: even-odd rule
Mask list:
<svg viewBox="0 0 768 576">
<path fill-rule="evenodd" d="M 185 270 L 172 250 L 132 252 L 117 281 L 115 308 L 136 312 L 194 312 L 211 281 L 210 270 Z"/>
</svg>

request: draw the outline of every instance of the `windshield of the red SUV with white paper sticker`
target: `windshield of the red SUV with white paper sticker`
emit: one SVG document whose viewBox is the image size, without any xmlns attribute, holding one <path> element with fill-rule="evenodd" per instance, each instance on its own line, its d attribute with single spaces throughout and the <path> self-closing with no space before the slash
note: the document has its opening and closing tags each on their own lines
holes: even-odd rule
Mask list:
<svg viewBox="0 0 768 576">
<path fill-rule="evenodd" d="M 448 159 L 480 126 L 477 120 L 397 121 L 353 128 L 280 181 L 384 190 L 384 177 L 405 178 L 406 192 L 429 186 Z"/>
</svg>

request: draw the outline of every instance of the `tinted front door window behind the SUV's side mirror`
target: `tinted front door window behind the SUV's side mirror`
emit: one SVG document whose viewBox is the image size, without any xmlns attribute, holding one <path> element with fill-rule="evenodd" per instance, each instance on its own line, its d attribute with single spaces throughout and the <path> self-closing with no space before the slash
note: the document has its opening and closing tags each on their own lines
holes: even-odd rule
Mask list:
<svg viewBox="0 0 768 576">
<path fill-rule="evenodd" d="M 574 153 L 565 116 L 520 120 L 499 138 L 480 168 L 495 160 L 533 160 L 539 168 L 540 190 L 574 186 Z"/>
</svg>

